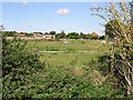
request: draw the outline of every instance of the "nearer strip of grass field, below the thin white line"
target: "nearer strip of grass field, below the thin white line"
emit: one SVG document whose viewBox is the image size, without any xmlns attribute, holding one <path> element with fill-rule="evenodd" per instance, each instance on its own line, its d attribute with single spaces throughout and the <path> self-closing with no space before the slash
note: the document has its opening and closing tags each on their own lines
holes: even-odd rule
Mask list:
<svg viewBox="0 0 133 100">
<path fill-rule="evenodd" d="M 98 59 L 103 53 L 42 53 L 40 60 L 45 61 L 52 66 L 71 64 L 75 66 L 88 64 L 92 59 Z"/>
</svg>

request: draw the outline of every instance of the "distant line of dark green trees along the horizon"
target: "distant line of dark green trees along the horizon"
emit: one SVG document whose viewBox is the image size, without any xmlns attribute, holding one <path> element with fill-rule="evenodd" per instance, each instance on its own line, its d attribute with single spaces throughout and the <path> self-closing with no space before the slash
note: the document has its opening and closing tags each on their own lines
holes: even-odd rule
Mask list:
<svg viewBox="0 0 133 100">
<path fill-rule="evenodd" d="M 25 37 L 32 37 L 33 33 L 43 34 L 42 32 L 33 32 L 33 33 L 20 32 L 20 33 L 24 33 Z M 4 36 L 7 36 L 7 37 L 13 37 L 17 34 L 19 34 L 17 31 L 4 31 Z M 91 39 L 91 40 L 100 39 L 100 40 L 104 40 L 105 39 L 105 36 L 99 36 L 95 32 L 92 32 L 92 33 L 83 33 L 83 32 L 65 33 L 64 31 L 61 31 L 60 33 L 58 33 L 55 31 L 50 31 L 50 32 L 44 32 L 44 34 L 55 36 L 55 40 L 60 40 L 60 39 Z"/>
</svg>

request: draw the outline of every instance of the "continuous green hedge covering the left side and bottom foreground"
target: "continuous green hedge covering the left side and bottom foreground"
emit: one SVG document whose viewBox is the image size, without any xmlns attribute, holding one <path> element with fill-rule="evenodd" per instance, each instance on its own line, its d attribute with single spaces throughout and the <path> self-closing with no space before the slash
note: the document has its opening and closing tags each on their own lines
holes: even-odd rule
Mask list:
<svg viewBox="0 0 133 100">
<path fill-rule="evenodd" d="M 81 67 L 82 74 L 79 71 L 75 72 L 78 57 L 69 66 L 51 67 L 40 62 L 40 56 L 31 48 L 27 48 L 27 41 L 16 38 L 7 40 L 3 37 L 2 44 L 3 99 L 110 98 L 117 96 L 117 90 L 114 90 L 111 82 L 105 81 L 101 86 L 95 86 L 88 78 L 91 72 L 89 66 L 88 70 Z M 75 49 L 66 48 L 66 50 L 72 52 Z"/>
</svg>

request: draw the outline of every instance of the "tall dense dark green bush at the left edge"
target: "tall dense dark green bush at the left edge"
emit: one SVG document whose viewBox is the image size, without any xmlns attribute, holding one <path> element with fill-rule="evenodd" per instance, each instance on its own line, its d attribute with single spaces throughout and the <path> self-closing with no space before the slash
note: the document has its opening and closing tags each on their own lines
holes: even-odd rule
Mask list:
<svg viewBox="0 0 133 100">
<path fill-rule="evenodd" d="M 30 98 L 34 91 L 32 76 L 44 69 L 39 61 L 39 54 L 25 48 L 27 42 L 18 39 L 2 40 L 2 74 L 6 98 Z M 32 92 L 33 91 L 33 92 Z"/>
</svg>

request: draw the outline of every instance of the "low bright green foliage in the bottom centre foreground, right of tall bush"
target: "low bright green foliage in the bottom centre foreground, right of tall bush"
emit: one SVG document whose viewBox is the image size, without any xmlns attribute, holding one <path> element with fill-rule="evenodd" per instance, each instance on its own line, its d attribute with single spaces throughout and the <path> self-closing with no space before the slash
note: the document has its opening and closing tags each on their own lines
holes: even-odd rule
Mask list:
<svg viewBox="0 0 133 100">
<path fill-rule="evenodd" d="M 115 93 L 110 83 L 96 87 L 90 79 L 75 76 L 72 69 L 69 66 L 48 67 L 34 98 L 104 98 Z"/>
</svg>

